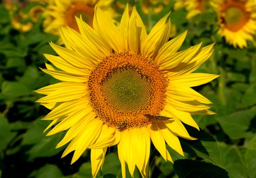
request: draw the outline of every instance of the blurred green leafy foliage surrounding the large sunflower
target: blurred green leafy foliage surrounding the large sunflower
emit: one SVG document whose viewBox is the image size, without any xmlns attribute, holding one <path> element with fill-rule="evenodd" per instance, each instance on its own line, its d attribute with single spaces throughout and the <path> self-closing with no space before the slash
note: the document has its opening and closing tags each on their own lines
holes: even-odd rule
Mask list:
<svg viewBox="0 0 256 178">
<path fill-rule="evenodd" d="M 126 2 L 115 1 L 113 7 Z M 168 147 L 173 160 L 190 161 L 179 160 L 173 166 L 165 162 L 152 145 L 149 175 L 184 177 L 182 173 L 195 170 L 196 165 L 201 170 L 194 171 L 195 174 L 192 171 L 190 177 L 206 177 L 207 172 L 213 173 L 207 176 L 211 177 L 216 171 L 224 171 L 219 177 L 225 177 L 226 172 L 229 177 L 256 177 L 256 44 L 248 42 L 245 49 L 226 44 L 217 34 L 217 16 L 212 10 L 187 20 L 185 9 L 173 10 L 174 1 L 157 14 L 144 13 L 141 1 L 130 3 L 142 15 L 148 32 L 160 17 L 172 10 L 171 22 L 176 25 L 173 33 L 179 35 L 188 29 L 181 49 L 199 42 L 203 42 L 203 46 L 215 42 L 212 57 L 197 72 L 221 74 L 210 83 L 194 87 L 214 103 L 211 110 L 217 113 L 194 115 L 202 131 L 199 135 L 193 130 L 189 133 L 201 138 L 197 142 L 200 144 L 180 139 L 185 157 Z M 29 3 L 24 12 L 36 5 Z M 46 62 L 43 53 L 56 54 L 49 42 L 56 42 L 58 37 L 43 32 L 42 20 L 40 17 L 34 22 L 28 32 L 19 31 L 13 27 L 9 11 L 0 4 L 0 177 L 91 177 L 89 150 L 70 165 L 72 154 L 60 159 L 65 146 L 55 149 L 65 132 L 47 137 L 43 134 L 50 123 L 40 119 L 50 110 L 34 102 L 42 96 L 33 90 L 58 82 L 39 69 L 44 68 Z M 117 147 L 107 151 L 98 176 L 121 177 Z M 139 176 L 135 170 L 134 177 Z M 130 177 L 128 170 L 127 177 Z"/>
</svg>

